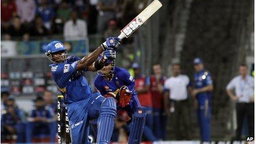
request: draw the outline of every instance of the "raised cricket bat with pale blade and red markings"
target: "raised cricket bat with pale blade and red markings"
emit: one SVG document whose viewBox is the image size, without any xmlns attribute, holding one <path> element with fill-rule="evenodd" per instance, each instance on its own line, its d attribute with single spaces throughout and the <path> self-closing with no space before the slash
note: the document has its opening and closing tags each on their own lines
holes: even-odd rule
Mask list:
<svg viewBox="0 0 256 144">
<path fill-rule="evenodd" d="M 138 29 L 148 18 L 151 17 L 159 8 L 162 7 L 162 3 L 158 0 L 154 0 L 148 5 L 140 14 L 137 15 L 129 24 L 127 24 L 118 36 L 119 39 L 128 38 L 135 30 Z"/>
</svg>

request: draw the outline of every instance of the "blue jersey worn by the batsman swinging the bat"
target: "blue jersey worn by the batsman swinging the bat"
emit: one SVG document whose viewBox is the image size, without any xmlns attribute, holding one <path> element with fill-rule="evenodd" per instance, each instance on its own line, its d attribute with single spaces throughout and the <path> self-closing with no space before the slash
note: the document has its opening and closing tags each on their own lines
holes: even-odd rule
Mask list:
<svg viewBox="0 0 256 144">
<path fill-rule="evenodd" d="M 86 78 L 82 76 L 82 71 L 76 71 L 79 60 L 81 58 L 69 56 L 67 61 L 63 63 L 52 63 L 50 65 L 54 81 L 65 97 L 66 104 L 87 99 L 92 94 L 92 89 Z M 87 69 L 83 71 L 87 71 Z"/>
</svg>

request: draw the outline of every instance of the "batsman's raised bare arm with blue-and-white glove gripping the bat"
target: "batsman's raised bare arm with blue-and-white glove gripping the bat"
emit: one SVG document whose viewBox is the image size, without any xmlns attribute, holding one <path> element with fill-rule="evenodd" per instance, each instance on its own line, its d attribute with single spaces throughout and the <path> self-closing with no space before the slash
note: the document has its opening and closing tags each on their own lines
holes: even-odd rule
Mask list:
<svg viewBox="0 0 256 144">
<path fill-rule="evenodd" d="M 116 37 L 109 37 L 106 39 L 102 45 L 100 45 L 96 50 L 94 50 L 90 55 L 84 56 L 82 60 L 77 63 L 76 70 L 84 70 L 88 68 L 88 71 L 96 71 L 103 68 L 103 61 L 96 61 L 102 52 L 104 52 L 108 47 L 117 49 L 120 45 L 120 39 Z"/>
</svg>

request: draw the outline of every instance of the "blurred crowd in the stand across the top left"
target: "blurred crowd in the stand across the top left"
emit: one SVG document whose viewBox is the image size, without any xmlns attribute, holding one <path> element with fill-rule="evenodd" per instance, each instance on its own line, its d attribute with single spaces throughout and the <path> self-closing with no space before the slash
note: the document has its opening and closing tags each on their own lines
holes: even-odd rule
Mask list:
<svg viewBox="0 0 256 144">
<path fill-rule="evenodd" d="M 84 39 L 88 34 L 109 36 L 146 5 L 146 0 L 1 0 L 1 36 L 4 40 L 52 35 L 63 35 L 66 40 Z"/>
</svg>

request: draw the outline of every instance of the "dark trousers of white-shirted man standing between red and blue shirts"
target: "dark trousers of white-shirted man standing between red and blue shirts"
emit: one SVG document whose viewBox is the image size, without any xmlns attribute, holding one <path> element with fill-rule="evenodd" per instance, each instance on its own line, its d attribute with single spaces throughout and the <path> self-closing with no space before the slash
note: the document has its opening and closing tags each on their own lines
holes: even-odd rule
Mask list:
<svg viewBox="0 0 256 144">
<path fill-rule="evenodd" d="M 188 100 L 173 101 L 174 130 L 176 140 L 190 140 L 189 103 Z"/>
</svg>

